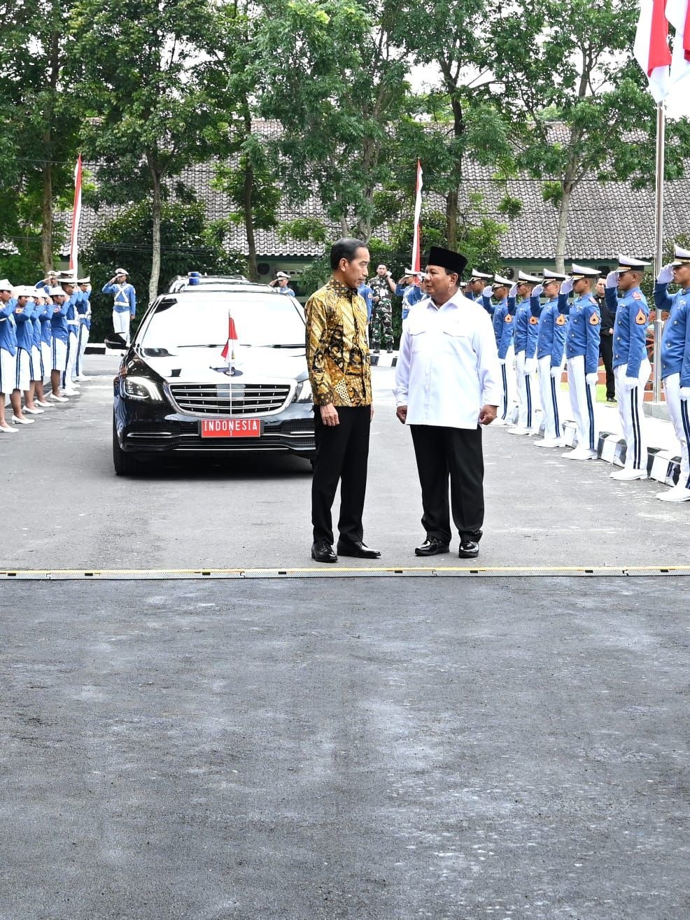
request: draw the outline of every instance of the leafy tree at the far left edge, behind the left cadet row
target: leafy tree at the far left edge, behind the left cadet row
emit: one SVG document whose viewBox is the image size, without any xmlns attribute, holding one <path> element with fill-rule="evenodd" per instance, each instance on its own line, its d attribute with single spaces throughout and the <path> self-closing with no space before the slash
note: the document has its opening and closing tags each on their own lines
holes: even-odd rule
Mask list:
<svg viewBox="0 0 690 920">
<path fill-rule="evenodd" d="M 53 267 L 54 208 L 71 206 L 78 100 L 64 0 L 9 0 L 0 45 L 0 208 L 20 264 Z M 37 235 L 38 232 L 38 235 Z M 40 250 L 37 252 L 37 243 Z M 17 263 L 17 259 L 15 260 Z"/>
</svg>

